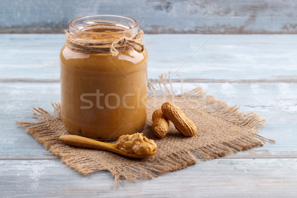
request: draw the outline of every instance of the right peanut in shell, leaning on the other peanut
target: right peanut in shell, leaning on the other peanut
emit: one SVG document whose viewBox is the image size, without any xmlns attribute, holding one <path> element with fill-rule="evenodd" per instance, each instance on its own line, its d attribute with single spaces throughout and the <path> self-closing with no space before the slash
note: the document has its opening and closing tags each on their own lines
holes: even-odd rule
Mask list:
<svg viewBox="0 0 297 198">
<path fill-rule="evenodd" d="M 162 105 L 163 115 L 170 120 L 175 128 L 183 135 L 192 137 L 196 134 L 195 124 L 176 105 L 165 102 Z"/>
</svg>

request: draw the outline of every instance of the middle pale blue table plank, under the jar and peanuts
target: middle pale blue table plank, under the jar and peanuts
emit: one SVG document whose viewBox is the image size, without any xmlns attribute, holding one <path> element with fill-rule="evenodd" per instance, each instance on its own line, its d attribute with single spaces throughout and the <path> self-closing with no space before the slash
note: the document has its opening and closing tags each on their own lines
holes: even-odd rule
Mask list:
<svg viewBox="0 0 297 198">
<path fill-rule="evenodd" d="M 296 83 L 184 83 L 190 91 L 200 85 L 208 94 L 238 104 L 245 112 L 254 111 L 268 119 L 259 135 L 276 144 L 252 148 L 227 157 L 297 157 L 297 84 Z M 180 84 L 173 84 L 180 93 Z M 15 121 L 37 121 L 32 107 L 52 111 L 50 102 L 60 101 L 59 83 L 0 83 L 0 158 L 55 158 Z"/>
</svg>

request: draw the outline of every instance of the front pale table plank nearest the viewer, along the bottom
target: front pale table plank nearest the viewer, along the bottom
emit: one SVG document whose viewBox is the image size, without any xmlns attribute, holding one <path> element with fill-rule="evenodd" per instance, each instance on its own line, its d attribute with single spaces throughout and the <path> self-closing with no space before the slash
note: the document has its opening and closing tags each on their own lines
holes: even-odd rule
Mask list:
<svg viewBox="0 0 297 198">
<path fill-rule="evenodd" d="M 0 160 L 1 197 L 296 197 L 297 159 L 215 159 L 152 180 L 83 176 L 59 160 Z"/>
</svg>

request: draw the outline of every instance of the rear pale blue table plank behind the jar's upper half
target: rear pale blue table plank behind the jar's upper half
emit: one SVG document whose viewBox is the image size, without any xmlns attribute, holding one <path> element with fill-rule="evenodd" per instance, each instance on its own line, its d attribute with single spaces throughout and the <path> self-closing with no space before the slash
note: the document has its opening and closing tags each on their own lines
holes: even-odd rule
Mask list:
<svg viewBox="0 0 297 198">
<path fill-rule="evenodd" d="M 146 35 L 149 78 L 178 71 L 184 79 L 296 82 L 297 35 L 210 36 Z M 64 35 L 2 34 L 0 43 L 2 82 L 59 80 Z"/>
</svg>

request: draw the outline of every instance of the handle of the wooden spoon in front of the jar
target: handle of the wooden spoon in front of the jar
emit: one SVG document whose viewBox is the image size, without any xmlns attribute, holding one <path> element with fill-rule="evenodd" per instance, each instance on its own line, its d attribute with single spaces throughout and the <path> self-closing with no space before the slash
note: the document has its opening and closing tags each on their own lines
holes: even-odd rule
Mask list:
<svg viewBox="0 0 297 198">
<path fill-rule="evenodd" d="M 84 148 L 99 148 L 105 150 L 114 149 L 114 144 L 104 143 L 96 141 L 90 138 L 85 138 L 77 135 L 64 135 L 60 136 L 59 140 L 66 145 L 75 146 L 75 147 L 84 147 Z"/>
</svg>

